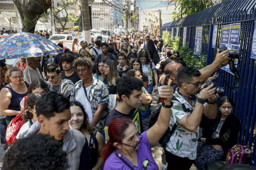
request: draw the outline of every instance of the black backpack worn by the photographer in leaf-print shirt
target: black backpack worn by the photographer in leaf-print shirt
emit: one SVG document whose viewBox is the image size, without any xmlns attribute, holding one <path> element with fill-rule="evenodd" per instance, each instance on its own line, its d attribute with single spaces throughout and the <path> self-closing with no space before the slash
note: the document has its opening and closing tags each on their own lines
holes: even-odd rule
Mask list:
<svg viewBox="0 0 256 170">
<path fill-rule="evenodd" d="M 172 97 L 172 100 L 180 102 L 174 95 Z M 182 105 L 182 109 L 185 112 L 192 112 L 192 110 L 190 110 L 190 109 L 185 107 L 184 103 L 181 104 L 181 105 Z M 143 120 L 143 122 L 142 122 L 142 124 L 143 124 L 143 131 L 148 130 L 149 128 L 151 128 L 156 123 L 157 118 L 158 118 L 158 116 L 160 114 L 161 107 L 162 107 L 162 105 L 160 107 L 158 107 L 157 110 L 152 115 L 149 115 L 146 119 Z M 166 143 L 170 140 L 170 138 L 171 138 L 174 130 L 176 129 L 176 127 L 177 127 L 177 124 L 175 123 L 172 126 L 172 129 L 168 128 L 166 130 L 166 132 L 164 133 L 164 136 L 161 137 L 161 139 L 158 141 L 159 144 L 161 144 L 163 148 L 165 148 Z"/>
</svg>

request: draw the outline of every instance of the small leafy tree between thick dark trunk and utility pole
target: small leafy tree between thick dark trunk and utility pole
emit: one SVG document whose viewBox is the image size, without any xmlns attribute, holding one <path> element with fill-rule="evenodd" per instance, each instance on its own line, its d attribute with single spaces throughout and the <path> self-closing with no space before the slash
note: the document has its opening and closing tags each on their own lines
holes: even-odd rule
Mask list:
<svg viewBox="0 0 256 170">
<path fill-rule="evenodd" d="M 60 0 L 58 2 L 59 7 L 54 8 L 54 10 L 53 10 L 53 16 L 57 20 L 57 22 L 60 24 L 60 26 L 62 27 L 63 30 L 65 29 L 66 24 L 68 22 L 68 11 L 67 11 L 67 9 L 70 5 L 76 4 L 76 2 L 77 2 L 77 0 Z M 62 12 L 64 14 L 63 11 L 65 11 L 66 16 L 59 17 L 58 14 L 61 15 L 60 12 Z"/>
</svg>

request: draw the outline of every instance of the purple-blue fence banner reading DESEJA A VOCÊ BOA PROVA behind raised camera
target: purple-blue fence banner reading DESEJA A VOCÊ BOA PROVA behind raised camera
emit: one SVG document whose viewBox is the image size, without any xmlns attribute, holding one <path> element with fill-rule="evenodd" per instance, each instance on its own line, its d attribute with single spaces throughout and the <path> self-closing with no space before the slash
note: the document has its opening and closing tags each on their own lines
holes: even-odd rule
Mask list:
<svg viewBox="0 0 256 170">
<path fill-rule="evenodd" d="M 222 26 L 220 47 L 224 46 L 224 47 L 227 47 L 228 50 L 232 50 L 232 49 L 238 50 L 240 47 L 239 46 L 240 32 L 241 32 L 241 23 Z M 237 64 L 237 62 L 238 60 L 236 59 L 234 63 Z M 235 67 L 237 67 L 237 65 L 235 65 Z M 222 67 L 221 69 L 229 72 L 230 74 L 233 74 L 233 72 L 229 68 L 229 64 L 226 65 L 225 67 Z"/>
</svg>

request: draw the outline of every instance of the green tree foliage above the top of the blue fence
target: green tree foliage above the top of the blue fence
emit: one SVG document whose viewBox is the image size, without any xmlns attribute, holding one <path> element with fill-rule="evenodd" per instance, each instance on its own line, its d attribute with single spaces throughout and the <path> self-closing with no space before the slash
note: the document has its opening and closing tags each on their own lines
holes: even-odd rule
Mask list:
<svg viewBox="0 0 256 170">
<path fill-rule="evenodd" d="M 168 5 L 174 3 L 175 11 L 172 13 L 172 19 L 176 21 L 224 1 L 226 0 L 169 0 Z"/>
</svg>

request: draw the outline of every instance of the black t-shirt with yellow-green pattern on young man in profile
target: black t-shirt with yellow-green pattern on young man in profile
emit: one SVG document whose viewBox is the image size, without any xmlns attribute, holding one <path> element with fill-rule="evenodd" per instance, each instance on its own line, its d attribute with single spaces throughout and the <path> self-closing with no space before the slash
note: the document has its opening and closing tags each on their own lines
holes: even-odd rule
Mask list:
<svg viewBox="0 0 256 170">
<path fill-rule="evenodd" d="M 138 130 L 139 133 L 143 132 L 143 127 L 142 127 L 142 122 L 141 122 L 141 115 L 140 115 L 140 109 L 139 108 L 133 108 L 130 112 L 129 115 L 125 115 L 121 112 L 118 112 L 116 109 L 112 110 L 112 112 L 107 116 L 105 120 L 105 142 L 107 143 L 108 141 L 108 126 L 109 124 L 118 117 L 126 117 L 129 119 L 132 119 L 132 122 L 134 123 L 136 129 Z"/>
</svg>

